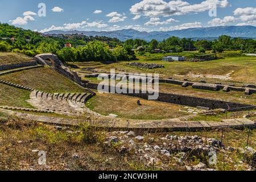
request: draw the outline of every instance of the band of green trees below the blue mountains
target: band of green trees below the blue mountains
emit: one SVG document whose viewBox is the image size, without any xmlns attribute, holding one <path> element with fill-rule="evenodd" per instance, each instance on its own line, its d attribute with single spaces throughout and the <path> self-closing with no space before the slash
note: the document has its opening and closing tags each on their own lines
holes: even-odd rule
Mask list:
<svg viewBox="0 0 256 182">
<path fill-rule="evenodd" d="M 13 38 L 13 39 L 12 39 Z M 72 48 L 64 47 L 71 43 Z M 143 55 L 145 52 L 155 53 L 182 51 L 223 52 L 241 50 L 246 53 L 256 53 L 256 40 L 231 38 L 221 35 L 218 39 L 192 40 L 172 36 L 158 42 L 153 39 L 146 42 L 141 39 L 129 39 L 121 42 L 117 38 L 106 36 L 57 35 L 46 36 L 39 32 L 23 30 L 7 23 L 0 23 L 0 52 L 18 52 L 27 56 L 39 53 L 54 53 L 63 61 L 121 61 L 136 59 L 135 52 Z"/>
</svg>

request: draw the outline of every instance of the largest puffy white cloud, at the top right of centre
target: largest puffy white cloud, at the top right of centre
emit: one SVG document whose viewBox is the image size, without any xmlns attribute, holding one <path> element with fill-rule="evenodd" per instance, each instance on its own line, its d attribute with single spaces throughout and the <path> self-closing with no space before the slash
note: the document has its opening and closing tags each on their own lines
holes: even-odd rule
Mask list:
<svg viewBox="0 0 256 182">
<path fill-rule="evenodd" d="M 205 0 L 199 4 L 193 4 L 182 0 L 164 1 L 164 0 L 143 0 L 131 6 L 130 12 L 135 17 L 139 16 L 172 16 L 189 13 L 199 13 L 212 9 L 212 7 L 227 7 L 228 0 Z M 134 18 L 135 18 L 134 17 Z"/>
</svg>

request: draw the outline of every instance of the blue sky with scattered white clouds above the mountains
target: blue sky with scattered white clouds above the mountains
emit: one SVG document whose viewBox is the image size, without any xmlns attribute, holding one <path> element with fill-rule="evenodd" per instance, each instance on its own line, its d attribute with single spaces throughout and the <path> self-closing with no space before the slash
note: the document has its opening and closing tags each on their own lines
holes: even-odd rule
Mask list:
<svg viewBox="0 0 256 182">
<path fill-rule="evenodd" d="M 39 16 L 39 3 L 46 16 Z M 0 22 L 40 32 L 256 25 L 256 0 L 0 0 L 0 6 Z"/>
</svg>

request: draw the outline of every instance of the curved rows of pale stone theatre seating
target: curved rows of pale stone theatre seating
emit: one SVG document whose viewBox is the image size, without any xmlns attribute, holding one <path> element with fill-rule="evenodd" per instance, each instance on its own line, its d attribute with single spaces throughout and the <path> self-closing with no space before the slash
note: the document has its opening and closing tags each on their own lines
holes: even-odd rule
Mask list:
<svg viewBox="0 0 256 182">
<path fill-rule="evenodd" d="M 85 112 L 85 102 L 92 97 L 90 93 L 46 93 L 34 90 L 28 102 L 34 107 L 57 114 L 81 115 Z"/>
</svg>

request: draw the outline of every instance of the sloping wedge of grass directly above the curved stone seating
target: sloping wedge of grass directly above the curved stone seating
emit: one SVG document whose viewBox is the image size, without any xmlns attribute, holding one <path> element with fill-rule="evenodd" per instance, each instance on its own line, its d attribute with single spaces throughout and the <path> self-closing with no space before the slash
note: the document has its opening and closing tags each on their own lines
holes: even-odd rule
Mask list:
<svg viewBox="0 0 256 182">
<path fill-rule="evenodd" d="M 49 93 L 84 92 L 80 86 L 47 67 L 11 73 L 0 79 Z"/>
</svg>

